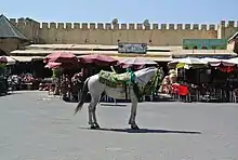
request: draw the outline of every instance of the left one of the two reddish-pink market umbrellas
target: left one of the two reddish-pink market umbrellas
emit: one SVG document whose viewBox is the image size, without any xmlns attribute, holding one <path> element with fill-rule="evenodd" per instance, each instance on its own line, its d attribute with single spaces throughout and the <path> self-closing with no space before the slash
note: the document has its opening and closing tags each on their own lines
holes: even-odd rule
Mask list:
<svg viewBox="0 0 238 160">
<path fill-rule="evenodd" d="M 44 63 L 75 63 L 77 62 L 77 56 L 70 52 L 53 52 L 44 57 Z"/>
</svg>

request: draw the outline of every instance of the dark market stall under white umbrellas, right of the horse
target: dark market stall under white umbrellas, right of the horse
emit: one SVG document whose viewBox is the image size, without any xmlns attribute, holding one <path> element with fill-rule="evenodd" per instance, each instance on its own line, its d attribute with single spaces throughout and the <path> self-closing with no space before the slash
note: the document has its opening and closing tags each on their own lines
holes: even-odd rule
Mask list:
<svg viewBox="0 0 238 160">
<path fill-rule="evenodd" d="M 234 90 L 238 88 L 235 82 L 238 79 L 237 64 L 237 58 L 187 57 L 174 59 L 168 65 L 175 69 L 177 83 L 187 86 L 187 96 L 196 90 L 195 101 L 232 102 Z M 174 90 L 172 86 L 171 91 Z"/>
</svg>

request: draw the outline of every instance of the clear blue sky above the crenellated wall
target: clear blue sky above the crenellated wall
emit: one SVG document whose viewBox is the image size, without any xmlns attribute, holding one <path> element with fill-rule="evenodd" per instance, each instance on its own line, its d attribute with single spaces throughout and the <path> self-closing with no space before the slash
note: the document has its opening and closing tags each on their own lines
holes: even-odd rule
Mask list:
<svg viewBox="0 0 238 160">
<path fill-rule="evenodd" d="M 2 0 L 0 12 L 39 22 L 219 23 L 238 21 L 238 0 Z"/>
</svg>

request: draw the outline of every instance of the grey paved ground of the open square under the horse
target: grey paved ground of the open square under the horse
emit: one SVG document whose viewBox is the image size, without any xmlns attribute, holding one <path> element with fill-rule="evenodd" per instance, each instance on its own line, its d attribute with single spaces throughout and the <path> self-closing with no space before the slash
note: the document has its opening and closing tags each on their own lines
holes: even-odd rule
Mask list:
<svg viewBox="0 0 238 160">
<path fill-rule="evenodd" d="M 143 103 L 141 133 L 127 129 L 125 106 L 101 106 L 101 131 L 88 129 L 87 107 L 74 117 L 76 104 L 44 92 L 0 97 L 0 107 L 1 160 L 238 159 L 236 104 Z"/>
</svg>

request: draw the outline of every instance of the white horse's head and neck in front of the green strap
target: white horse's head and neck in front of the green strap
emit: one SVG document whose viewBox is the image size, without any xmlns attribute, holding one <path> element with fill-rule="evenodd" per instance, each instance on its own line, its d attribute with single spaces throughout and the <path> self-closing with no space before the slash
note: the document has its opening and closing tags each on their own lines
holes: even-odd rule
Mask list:
<svg viewBox="0 0 238 160">
<path fill-rule="evenodd" d="M 144 68 L 141 70 L 135 71 L 135 82 L 138 83 L 138 85 L 143 86 L 146 85 L 151 78 L 157 74 L 158 68 L 149 67 Z"/>
</svg>

